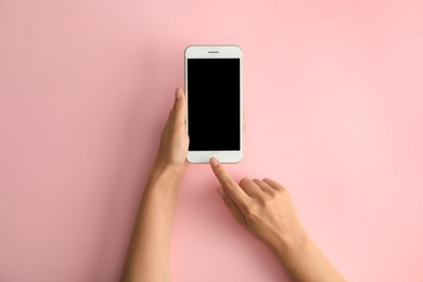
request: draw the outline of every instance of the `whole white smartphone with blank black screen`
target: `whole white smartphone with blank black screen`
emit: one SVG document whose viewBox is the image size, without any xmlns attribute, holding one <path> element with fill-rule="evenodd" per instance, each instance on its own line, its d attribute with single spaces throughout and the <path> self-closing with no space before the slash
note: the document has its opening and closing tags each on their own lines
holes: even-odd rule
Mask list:
<svg viewBox="0 0 423 282">
<path fill-rule="evenodd" d="M 242 158 L 242 50 L 239 46 L 185 49 L 188 161 Z"/>
</svg>

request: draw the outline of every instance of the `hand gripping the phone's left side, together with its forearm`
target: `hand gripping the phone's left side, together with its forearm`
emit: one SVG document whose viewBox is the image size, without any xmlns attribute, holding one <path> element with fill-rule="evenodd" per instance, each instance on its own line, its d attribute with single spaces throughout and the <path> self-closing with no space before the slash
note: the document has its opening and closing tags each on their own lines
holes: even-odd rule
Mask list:
<svg viewBox="0 0 423 282">
<path fill-rule="evenodd" d="M 169 281 L 175 205 L 188 167 L 185 112 L 187 99 L 178 88 L 138 209 L 120 281 Z"/>
</svg>

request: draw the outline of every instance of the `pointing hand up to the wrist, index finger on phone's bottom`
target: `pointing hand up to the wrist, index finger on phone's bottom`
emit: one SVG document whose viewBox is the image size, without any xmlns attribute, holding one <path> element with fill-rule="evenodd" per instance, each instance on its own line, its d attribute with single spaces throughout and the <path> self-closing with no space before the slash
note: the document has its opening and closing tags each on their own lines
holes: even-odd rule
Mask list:
<svg viewBox="0 0 423 282">
<path fill-rule="evenodd" d="M 216 159 L 211 169 L 220 182 L 218 192 L 236 221 L 271 248 L 302 243 L 302 227 L 290 193 L 278 182 L 265 178 L 243 178 L 236 183 Z"/>
</svg>

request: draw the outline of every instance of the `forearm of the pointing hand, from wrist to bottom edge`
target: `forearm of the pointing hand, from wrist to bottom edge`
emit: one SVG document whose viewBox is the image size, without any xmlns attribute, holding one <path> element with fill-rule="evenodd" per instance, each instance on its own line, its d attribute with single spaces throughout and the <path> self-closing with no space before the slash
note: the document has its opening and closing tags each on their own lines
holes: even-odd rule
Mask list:
<svg viewBox="0 0 423 282">
<path fill-rule="evenodd" d="M 346 281 L 306 232 L 272 249 L 294 281 Z"/>
</svg>

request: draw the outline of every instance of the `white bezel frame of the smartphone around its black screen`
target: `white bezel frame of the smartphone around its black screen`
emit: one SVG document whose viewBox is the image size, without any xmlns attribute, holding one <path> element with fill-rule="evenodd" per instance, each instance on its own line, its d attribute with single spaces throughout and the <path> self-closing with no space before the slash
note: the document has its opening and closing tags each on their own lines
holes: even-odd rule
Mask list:
<svg viewBox="0 0 423 282">
<path fill-rule="evenodd" d="M 187 159 L 190 163 L 209 163 L 210 157 L 216 157 L 220 163 L 239 163 L 243 157 L 243 59 L 242 49 L 239 46 L 189 46 L 184 51 L 185 95 L 190 99 L 188 89 L 188 59 L 240 59 L 240 150 L 239 151 L 188 151 Z M 187 107 L 187 130 L 188 130 Z"/>
</svg>

